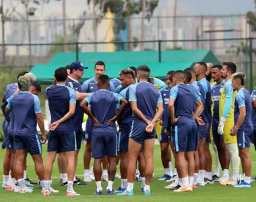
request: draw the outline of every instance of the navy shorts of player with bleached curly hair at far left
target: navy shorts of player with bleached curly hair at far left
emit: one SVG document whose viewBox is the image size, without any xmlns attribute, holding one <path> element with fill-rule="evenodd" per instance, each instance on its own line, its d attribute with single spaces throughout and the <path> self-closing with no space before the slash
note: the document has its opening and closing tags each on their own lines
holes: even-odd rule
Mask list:
<svg viewBox="0 0 256 202">
<path fill-rule="evenodd" d="M 42 145 L 38 135 L 14 135 L 15 150 L 27 149 L 31 155 L 42 154 Z"/>
</svg>

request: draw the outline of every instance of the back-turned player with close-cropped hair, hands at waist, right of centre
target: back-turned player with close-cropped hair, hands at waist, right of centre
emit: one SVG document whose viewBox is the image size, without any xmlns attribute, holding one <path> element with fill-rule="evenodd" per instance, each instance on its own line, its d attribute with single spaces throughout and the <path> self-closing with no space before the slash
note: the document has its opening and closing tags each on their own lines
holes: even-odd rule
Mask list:
<svg viewBox="0 0 256 202">
<path fill-rule="evenodd" d="M 176 71 L 170 90 L 169 111 L 171 124 L 174 125 L 173 139 L 176 152 L 177 171 L 181 187 L 174 192 L 190 192 L 195 171 L 194 151 L 197 149 L 197 123 L 203 111 L 203 104 L 192 86 L 184 84 L 183 71 Z M 194 104 L 197 105 L 193 113 Z M 186 153 L 186 158 L 185 158 Z M 191 176 L 191 177 L 187 177 Z"/>
</svg>

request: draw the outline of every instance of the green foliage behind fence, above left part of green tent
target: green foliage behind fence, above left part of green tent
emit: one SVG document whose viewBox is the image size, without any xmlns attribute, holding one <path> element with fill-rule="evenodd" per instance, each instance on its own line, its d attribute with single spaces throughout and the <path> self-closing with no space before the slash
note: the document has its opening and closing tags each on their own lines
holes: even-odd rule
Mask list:
<svg viewBox="0 0 256 202">
<path fill-rule="evenodd" d="M 67 42 L 68 43 L 73 42 L 73 40 L 70 36 L 69 36 Z M 64 45 L 61 44 L 61 43 L 64 43 L 63 36 L 58 35 L 58 34 L 55 35 L 55 42 L 53 42 L 53 43 L 60 44 L 60 45 L 52 45 L 49 50 L 49 53 L 48 53 L 49 56 L 53 56 L 53 55 L 55 55 L 55 53 L 64 52 Z M 70 52 L 75 52 L 75 45 L 67 45 L 67 50 Z"/>
</svg>

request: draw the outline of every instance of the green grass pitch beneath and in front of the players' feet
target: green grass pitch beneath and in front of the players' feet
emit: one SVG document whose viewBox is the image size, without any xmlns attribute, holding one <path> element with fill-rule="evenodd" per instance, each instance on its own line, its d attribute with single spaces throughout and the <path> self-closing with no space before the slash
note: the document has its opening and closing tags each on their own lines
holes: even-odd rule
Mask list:
<svg viewBox="0 0 256 202">
<path fill-rule="evenodd" d="M 77 175 L 84 174 L 84 166 L 83 166 L 83 152 L 79 154 L 79 160 L 77 165 Z M 3 163 L 5 151 L 0 150 L 0 162 Z M 43 147 L 43 157 L 44 162 L 46 159 L 46 146 Z M 212 154 L 214 154 L 212 152 Z M 213 156 L 214 157 L 214 156 Z M 252 176 L 256 175 L 256 152 L 254 151 L 254 147 L 251 147 L 251 158 L 253 162 L 253 172 Z M 213 158 L 214 160 L 214 158 Z M 213 165 L 214 166 L 214 165 Z M 3 173 L 3 168 L 0 169 L 1 174 Z M 213 167 L 214 171 L 214 167 Z M 34 172 L 34 163 L 32 162 L 32 158 L 28 157 L 28 176 L 30 179 L 36 181 L 36 174 Z M 164 174 L 164 170 L 162 168 L 162 162 L 160 160 L 160 146 L 156 145 L 154 150 L 154 172 L 156 174 L 156 178 L 152 180 L 151 186 L 151 197 L 144 197 L 140 193 L 140 182 L 135 182 L 135 196 L 134 197 L 118 197 L 118 196 L 94 196 L 93 193 L 96 190 L 95 182 L 88 183 L 86 186 L 77 186 L 74 187 L 77 193 L 80 193 L 79 197 L 71 197 L 67 198 L 65 196 L 66 187 L 61 187 L 59 184 L 59 171 L 57 168 L 57 162 L 55 162 L 53 169 L 53 187 L 54 189 L 58 189 L 60 193 L 53 193 L 51 197 L 43 197 L 42 193 L 40 193 L 40 189 L 36 186 L 34 189 L 34 193 L 22 195 L 19 193 L 9 193 L 3 189 L 0 190 L 1 199 L 0 201 L 253 201 L 255 197 L 256 191 L 256 182 L 253 184 L 253 187 L 248 189 L 235 189 L 233 187 L 222 187 L 220 184 L 207 185 L 205 187 L 200 187 L 199 189 L 194 189 L 192 193 L 173 193 L 167 189 L 164 189 L 167 182 L 160 182 L 157 179 Z M 84 177 L 81 176 L 83 179 Z M 2 179 L 1 179 L 2 180 Z M 114 188 L 117 189 L 121 185 L 121 180 L 116 179 L 114 182 Z M 102 182 L 103 193 L 106 193 L 107 182 Z"/>
</svg>

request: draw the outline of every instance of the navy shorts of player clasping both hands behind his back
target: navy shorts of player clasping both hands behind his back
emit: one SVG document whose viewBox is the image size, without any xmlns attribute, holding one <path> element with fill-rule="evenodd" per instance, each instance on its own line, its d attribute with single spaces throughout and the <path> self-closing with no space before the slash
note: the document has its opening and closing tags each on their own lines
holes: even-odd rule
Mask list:
<svg viewBox="0 0 256 202">
<path fill-rule="evenodd" d="M 146 132 L 146 123 L 139 120 L 135 119 L 133 120 L 133 123 L 131 124 L 131 132 L 129 137 L 133 139 L 133 141 L 143 144 L 143 141 L 146 139 L 153 139 L 156 138 L 156 129 L 154 128 L 152 133 L 147 133 Z"/>
</svg>

